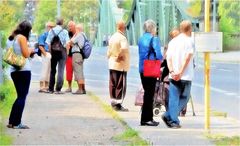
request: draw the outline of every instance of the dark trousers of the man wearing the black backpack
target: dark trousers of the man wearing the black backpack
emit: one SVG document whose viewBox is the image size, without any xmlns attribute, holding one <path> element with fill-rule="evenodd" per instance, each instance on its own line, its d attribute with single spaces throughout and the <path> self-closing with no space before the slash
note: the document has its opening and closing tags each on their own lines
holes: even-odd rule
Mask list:
<svg viewBox="0 0 240 146">
<path fill-rule="evenodd" d="M 58 73 L 57 73 L 57 85 L 55 90 L 61 91 L 64 81 L 64 68 L 66 64 L 67 54 L 65 51 L 53 51 L 51 52 L 51 71 L 50 71 L 50 81 L 49 81 L 49 91 L 54 91 L 55 85 L 55 75 L 56 75 L 56 67 L 58 65 Z"/>
</svg>

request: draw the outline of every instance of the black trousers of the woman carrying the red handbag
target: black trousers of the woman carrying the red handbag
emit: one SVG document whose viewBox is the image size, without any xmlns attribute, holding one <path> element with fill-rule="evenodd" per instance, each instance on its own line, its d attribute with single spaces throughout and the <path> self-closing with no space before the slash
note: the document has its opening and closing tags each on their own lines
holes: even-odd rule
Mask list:
<svg viewBox="0 0 240 146">
<path fill-rule="evenodd" d="M 148 122 L 153 120 L 153 97 L 157 79 L 144 77 L 143 73 L 140 73 L 140 77 L 144 89 L 141 122 Z"/>
</svg>

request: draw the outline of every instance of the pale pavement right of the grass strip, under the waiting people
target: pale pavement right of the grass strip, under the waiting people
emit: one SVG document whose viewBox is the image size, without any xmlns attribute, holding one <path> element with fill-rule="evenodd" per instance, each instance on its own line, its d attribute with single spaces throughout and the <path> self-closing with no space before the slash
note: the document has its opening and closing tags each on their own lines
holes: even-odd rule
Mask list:
<svg viewBox="0 0 240 146">
<path fill-rule="evenodd" d="M 103 102 L 109 104 L 108 94 L 97 87 L 88 87 L 101 98 Z M 132 92 L 133 93 L 133 92 Z M 149 141 L 152 145 L 214 145 L 207 139 L 207 131 L 204 130 L 204 107 L 194 103 L 196 116 L 192 116 L 191 105 L 188 106 L 186 117 L 180 117 L 181 129 L 170 129 L 161 120 L 161 117 L 154 117 L 160 122 L 158 127 L 147 127 L 140 125 L 140 107 L 134 106 L 134 94 L 127 94 L 124 107 L 129 108 L 129 112 L 118 112 L 127 124 L 138 131 L 140 136 Z M 160 113 L 161 115 L 162 113 Z M 223 136 L 240 136 L 240 121 L 224 117 L 211 117 L 209 134 Z"/>
</svg>

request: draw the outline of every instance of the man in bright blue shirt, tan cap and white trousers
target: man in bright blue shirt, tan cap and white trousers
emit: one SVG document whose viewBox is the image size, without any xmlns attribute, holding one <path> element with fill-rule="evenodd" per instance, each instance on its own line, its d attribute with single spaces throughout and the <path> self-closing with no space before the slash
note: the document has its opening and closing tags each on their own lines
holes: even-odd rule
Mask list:
<svg viewBox="0 0 240 146">
<path fill-rule="evenodd" d="M 49 53 L 48 44 L 45 42 L 50 29 L 54 27 L 53 22 L 46 23 L 46 31 L 38 38 L 38 49 L 41 51 L 42 57 L 42 72 L 40 74 L 40 90 L 39 92 L 46 92 L 49 86 L 49 76 L 51 67 L 51 54 Z"/>
</svg>

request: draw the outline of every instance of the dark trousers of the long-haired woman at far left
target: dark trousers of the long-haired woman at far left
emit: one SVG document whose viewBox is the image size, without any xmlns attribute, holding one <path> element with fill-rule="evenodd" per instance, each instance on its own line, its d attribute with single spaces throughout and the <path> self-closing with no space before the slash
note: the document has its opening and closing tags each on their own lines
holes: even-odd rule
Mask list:
<svg viewBox="0 0 240 146">
<path fill-rule="evenodd" d="M 11 73 L 15 89 L 17 91 L 17 99 L 13 103 L 12 110 L 9 116 L 9 124 L 17 126 L 21 123 L 25 101 L 29 91 L 31 72 L 16 71 Z"/>
</svg>

